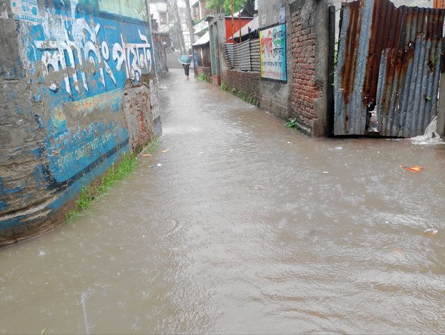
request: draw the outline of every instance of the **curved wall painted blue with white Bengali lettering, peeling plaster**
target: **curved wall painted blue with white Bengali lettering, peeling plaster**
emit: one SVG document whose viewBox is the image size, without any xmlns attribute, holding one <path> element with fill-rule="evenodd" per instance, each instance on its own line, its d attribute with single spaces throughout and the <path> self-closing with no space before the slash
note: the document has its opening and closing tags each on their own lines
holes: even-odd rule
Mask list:
<svg viewBox="0 0 445 335">
<path fill-rule="evenodd" d="M 161 131 L 145 1 L 10 0 L 0 13 L 0 246 L 63 220 Z"/>
</svg>

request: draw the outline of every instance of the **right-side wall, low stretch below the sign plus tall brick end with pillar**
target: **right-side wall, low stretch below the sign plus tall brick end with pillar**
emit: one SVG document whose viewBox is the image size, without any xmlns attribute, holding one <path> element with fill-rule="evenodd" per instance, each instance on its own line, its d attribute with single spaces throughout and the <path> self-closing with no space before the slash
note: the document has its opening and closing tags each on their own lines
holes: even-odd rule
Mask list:
<svg viewBox="0 0 445 335">
<path fill-rule="evenodd" d="M 222 76 L 230 92 L 247 93 L 259 107 L 284 120 L 296 117 L 298 128 L 312 136 L 330 134 L 333 55 L 333 8 L 330 0 L 299 0 L 289 4 L 286 18 L 287 83 L 261 81 L 259 72 L 228 70 Z M 334 25 L 332 25 L 334 27 Z M 223 50 L 223 49 L 222 49 Z M 225 59 L 225 56 L 221 56 Z M 245 96 L 245 94 L 243 94 Z"/>
</svg>

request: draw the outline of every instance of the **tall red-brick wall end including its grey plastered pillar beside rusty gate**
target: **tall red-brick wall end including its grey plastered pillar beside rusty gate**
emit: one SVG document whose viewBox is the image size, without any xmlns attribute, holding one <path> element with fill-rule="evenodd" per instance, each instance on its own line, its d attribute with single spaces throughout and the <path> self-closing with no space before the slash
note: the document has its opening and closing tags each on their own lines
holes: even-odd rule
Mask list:
<svg viewBox="0 0 445 335">
<path fill-rule="evenodd" d="M 332 133 L 335 11 L 330 0 L 291 3 L 291 111 L 312 136 Z"/>
</svg>

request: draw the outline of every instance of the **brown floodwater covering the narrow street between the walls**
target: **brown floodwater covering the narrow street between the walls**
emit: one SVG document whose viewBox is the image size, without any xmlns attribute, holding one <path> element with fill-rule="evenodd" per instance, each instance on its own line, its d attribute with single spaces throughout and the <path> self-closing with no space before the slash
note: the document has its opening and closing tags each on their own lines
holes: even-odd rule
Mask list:
<svg viewBox="0 0 445 335">
<path fill-rule="evenodd" d="M 444 147 L 309 138 L 179 70 L 162 85 L 156 154 L 0 251 L 0 334 L 445 332 Z"/>
</svg>

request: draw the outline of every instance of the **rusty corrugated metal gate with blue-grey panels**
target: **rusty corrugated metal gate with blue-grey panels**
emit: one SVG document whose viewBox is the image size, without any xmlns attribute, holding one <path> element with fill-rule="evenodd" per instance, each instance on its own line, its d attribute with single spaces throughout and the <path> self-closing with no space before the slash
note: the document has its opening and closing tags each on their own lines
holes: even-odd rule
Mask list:
<svg viewBox="0 0 445 335">
<path fill-rule="evenodd" d="M 437 115 L 444 16 L 388 0 L 343 6 L 334 135 L 423 134 Z"/>
</svg>

